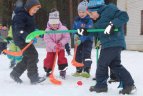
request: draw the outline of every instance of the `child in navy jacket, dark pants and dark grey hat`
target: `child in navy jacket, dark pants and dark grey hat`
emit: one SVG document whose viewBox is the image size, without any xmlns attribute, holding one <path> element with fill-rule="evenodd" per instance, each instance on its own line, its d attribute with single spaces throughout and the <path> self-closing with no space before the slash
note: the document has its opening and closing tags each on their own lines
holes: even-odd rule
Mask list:
<svg viewBox="0 0 143 96">
<path fill-rule="evenodd" d="M 28 34 L 35 30 L 34 15 L 41 8 L 39 0 L 27 0 L 24 7 L 15 9 L 15 16 L 12 20 L 12 32 L 13 40 L 16 46 L 23 49 L 27 43 L 25 38 Z M 36 38 L 33 39 L 33 43 L 36 42 Z M 19 62 L 16 67 L 13 68 L 10 73 L 10 77 L 17 83 L 22 83 L 20 76 L 27 70 L 27 75 L 31 84 L 37 84 L 45 80 L 44 77 L 39 77 L 38 74 L 38 52 L 34 45 L 24 51 L 22 61 Z"/>
</svg>

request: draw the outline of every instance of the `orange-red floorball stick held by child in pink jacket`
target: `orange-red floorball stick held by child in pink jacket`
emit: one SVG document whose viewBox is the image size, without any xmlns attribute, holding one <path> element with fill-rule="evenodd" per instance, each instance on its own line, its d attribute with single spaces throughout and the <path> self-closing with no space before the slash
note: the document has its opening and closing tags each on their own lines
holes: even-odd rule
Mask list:
<svg viewBox="0 0 143 96">
<path fill-rule="evenodd" d="M 55 58 L 54 58 L 54 64 L 53 64 L 52 72 L 51 72 L 49 78 L 50 78 L 50 81 L 51 81 L 53 84 L 55 84 L 55 85 L 61 85 L 62 82 L 61 82 L 60 80 L 57 80 L 57 79 L 54 77 L 54 69 L 55 69 L 57 57 L 58 57 L 58 49 L 56 49 L 56 55 L 55 55 Z"/>
</svg>

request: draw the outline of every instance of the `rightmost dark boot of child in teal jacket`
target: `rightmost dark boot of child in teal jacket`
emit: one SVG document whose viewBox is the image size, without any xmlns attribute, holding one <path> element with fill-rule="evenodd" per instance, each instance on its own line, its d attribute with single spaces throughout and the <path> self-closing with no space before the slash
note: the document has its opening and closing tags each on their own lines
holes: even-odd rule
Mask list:
<svg viewBox="0 0 143 96">
<path fill-rule="evenodd" d="M 132 94 L 136 91 L 135 85 L 127 86 L 119 91 L 119 94 Z"/>
</svg>

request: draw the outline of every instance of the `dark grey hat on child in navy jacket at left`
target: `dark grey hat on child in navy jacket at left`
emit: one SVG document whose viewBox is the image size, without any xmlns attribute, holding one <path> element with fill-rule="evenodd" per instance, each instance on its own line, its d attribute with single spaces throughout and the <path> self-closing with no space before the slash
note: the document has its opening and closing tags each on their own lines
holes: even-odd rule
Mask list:
<svg viewBox="0 0 143 96">
<path fill-rule="evenodd" d="M 36 5 L 39 5 L 39 8 L 41 8 L 39 0 L 27 0 L 24 7 L 26 8 L 27 11 L 29 11 L 32 7 Z"/>
</svg>

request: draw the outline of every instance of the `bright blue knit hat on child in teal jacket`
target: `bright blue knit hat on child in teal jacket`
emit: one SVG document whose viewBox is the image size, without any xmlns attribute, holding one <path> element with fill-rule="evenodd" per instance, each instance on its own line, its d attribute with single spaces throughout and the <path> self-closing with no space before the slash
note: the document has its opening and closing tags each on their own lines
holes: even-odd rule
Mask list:
<svg viewBox="0 0 143 96">
<path fill-rule="evenodd" d="M 105 5 L 104 0 L 89 0 L 88 3 L 88 11 L 93 12 L 93 11 L 98 11 L 100 7 Z"/>
</svg>

